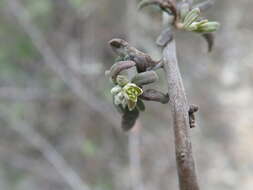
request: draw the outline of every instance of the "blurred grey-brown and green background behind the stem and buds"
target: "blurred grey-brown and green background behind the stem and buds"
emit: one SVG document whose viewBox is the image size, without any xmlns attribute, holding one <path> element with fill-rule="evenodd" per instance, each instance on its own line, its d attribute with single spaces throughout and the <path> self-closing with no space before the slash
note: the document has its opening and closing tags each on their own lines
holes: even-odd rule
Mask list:
<svg viewBox="0 0 253 190">
<path fill-rule="evenodd" d="M 253 1 L 217 0 L 212 53 L 176 35 L 201 189 L 253 189 Z M 0 0 L 0 189 L 178 189 L 168 105 L 146 103 L 120 129 L 104 71 L 107 42 L 127 39 L 155 59 L 158 9 L 135 0 Z M 163 73 L 155 85 L 166 91 Z"/>
</svg>

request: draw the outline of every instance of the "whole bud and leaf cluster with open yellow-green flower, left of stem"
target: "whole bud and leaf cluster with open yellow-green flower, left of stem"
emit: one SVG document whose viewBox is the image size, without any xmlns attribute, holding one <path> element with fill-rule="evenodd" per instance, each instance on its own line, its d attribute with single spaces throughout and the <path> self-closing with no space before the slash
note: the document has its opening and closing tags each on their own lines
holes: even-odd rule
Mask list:
<svg viewBox="0 0 253 190">
<path fill-rule="evenodd" d="M 145 110 L 143 100 L 165 104 L 168 103 L 169 96 L 155 89 L 143 89 L 143 86 L 159 79 L 155 72 L 155 69 L 160 68 L 159 61 L 154 61 L 125 40 L 113 39 L 109 44 L 118 55 L 117 61 L 106 71 L 106 75 L 114 84 L 111 89 L 113 104 L 122 114 L 122 128 L 130 130 L 139 112 Z M 130 72 L 132 77 L 129 76 Z"/>
</svg>

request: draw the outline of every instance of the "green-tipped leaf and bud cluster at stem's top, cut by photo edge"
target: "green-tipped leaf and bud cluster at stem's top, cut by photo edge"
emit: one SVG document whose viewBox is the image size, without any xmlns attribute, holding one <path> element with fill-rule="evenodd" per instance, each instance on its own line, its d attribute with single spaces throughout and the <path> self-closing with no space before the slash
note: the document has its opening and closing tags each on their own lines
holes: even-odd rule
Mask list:
<svg viewBox="0 0 253 190">
<path fill-rule="evenodd" d="M 168 28 L 165 35 L 163 34 L 157 41 L 157 45 L 164 46 L 171 40 L 172 34 L 171 28 L 176 28 L 179 30 L 195 32 L 201 34 L 201 36 L 208 43 L 208 51 L 212 51 L 214 45 L 214 34 L 216 30 L 219 29 L 220 24 L 215 21 L 208 21 L 202 18 L 201 12 L 210 8 L 213 5 L 213 0 L 204 0 L 196 5 L 192 4 L 192 1 L 187 0 L 142 0 L 139 3 L 139 8 L 143 8 L 149 5 L 155 5 L 160 8 L 160 10 L 168 13 L 170 19 L 168 21 Z"/>
</svg>

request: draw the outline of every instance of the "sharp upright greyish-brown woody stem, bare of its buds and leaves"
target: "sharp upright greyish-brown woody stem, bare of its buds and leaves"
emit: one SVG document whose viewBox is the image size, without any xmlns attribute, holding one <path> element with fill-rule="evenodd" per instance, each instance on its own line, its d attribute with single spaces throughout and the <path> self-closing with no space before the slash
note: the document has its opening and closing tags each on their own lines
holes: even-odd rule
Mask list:
<svg viewBox="0 0 253 190">
<path fill-rule="evenodd" d="M 164 71 L 173 118 L 175 151 L 180 190 L 199 190 L 189 137 L 189 105 L 178 68 L 176 44 L 173 39 L 163 50 Z"/>
</svg>

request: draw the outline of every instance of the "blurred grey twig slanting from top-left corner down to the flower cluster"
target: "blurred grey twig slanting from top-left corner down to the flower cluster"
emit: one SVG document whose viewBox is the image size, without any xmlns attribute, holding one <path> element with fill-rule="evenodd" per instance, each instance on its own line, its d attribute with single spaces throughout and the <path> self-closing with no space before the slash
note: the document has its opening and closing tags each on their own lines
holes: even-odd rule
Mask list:
<svg viewBox="0 0 253 190">
<path fill-rule="evenodd" d="M 45 64 L 47 64 L 81 100 L 116 127 L 118 121 L 114 117 L 115 111 L 111 107 L 108 107 L 108 104 L 105 104 L 103 100 L 97 98 L 91 89 L 85 88 L 80 80 L 68 72 L 68 69 L 61 64 L 61 61 L 54 54 L 53 49 L 49 46 L 46 39 L 44 39 L 40 30 L 32 23 L 28 12 L 20 2 L 17 0 L 8 0 L 7 3 L 11 13 L 17 18 L 19 24 L 29 35 L 35 47 L 43 56 Z"/>
</svg>

